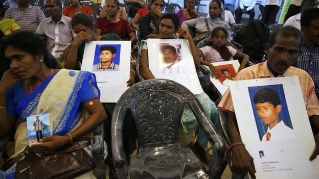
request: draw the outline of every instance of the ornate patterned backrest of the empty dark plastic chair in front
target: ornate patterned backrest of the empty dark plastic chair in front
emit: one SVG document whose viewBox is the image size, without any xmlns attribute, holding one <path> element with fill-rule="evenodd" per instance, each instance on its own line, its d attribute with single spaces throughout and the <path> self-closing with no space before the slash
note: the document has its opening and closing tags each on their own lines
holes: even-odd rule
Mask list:
<svg viewBox="0 0 319 179">
<path fill-rule="evenodd" d="M 186 87 L 157 79 L 133 85 L 124 92 L 117 106 L 122 106 L 123 112 L 131 111 L 143 148 L 177 143 L 185 103 L 192 106 L 194 100 L 196 97 Z"/>
</svg>

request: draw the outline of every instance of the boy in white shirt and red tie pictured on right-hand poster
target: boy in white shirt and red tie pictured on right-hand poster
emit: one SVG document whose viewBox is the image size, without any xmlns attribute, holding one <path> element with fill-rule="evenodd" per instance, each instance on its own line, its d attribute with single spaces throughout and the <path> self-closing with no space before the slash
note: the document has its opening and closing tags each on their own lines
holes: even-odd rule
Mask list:
<svg viewBox="0 0 319 179">
<path fill-rule="evenodd" d="M 254 103 L 260 120 L 268 125 L 261 141 L 293 139 L 293 130 L 280 119 L 282 105 L 276 90 L 263 88 L 254 95 Z"/>
</svg>

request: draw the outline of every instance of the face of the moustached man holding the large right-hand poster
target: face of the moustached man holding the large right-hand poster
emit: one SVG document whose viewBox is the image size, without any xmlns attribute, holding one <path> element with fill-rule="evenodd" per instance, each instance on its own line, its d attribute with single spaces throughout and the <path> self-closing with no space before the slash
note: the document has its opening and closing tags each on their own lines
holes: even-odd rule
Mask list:
<svg viewBox="0 0 319 179">
<path fill-rule="evenodd" d="M 278 35 L 270 47 L 265 45 L 269 70 L 276 75 L 283 74 L 299 57 L 300 39 Z"/>
</svg>

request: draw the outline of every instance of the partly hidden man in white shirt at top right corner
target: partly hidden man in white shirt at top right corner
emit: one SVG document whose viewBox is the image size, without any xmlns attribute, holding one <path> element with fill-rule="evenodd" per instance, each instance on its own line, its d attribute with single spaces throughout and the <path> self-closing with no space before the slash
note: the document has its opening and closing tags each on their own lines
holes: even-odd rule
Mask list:
<svg viewBox="0 0 319 179">
<path fill-rule="evenodd" d="M 301 3 L 301 13 L 303 13 L 305 10 L 307 9 L 311 9 L 311 8 L 316 8 L 316 0 L 304 0 Z M 287 19 L 287 21 L 285 22 L 285 25 L 291 25 L 297 29 L 300 30 L 300 18 L 301 18 L 301 13 L 291 16 Z"/>
</svg>

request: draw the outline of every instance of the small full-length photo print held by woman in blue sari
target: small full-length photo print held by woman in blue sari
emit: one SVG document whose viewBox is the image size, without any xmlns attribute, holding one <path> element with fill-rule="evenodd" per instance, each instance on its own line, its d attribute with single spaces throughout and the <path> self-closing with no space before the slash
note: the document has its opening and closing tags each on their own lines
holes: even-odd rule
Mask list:
<svg viewBox="0 0 319 179">
<path fill-rule="evenodd" d="M 37 114 L 27 117 L 29 146 L 31 146 L 32 144 L 37 144 L 41 142 L 43 138 L 52 135 L 49 118 L 49 113 Z"/>
</svg>

